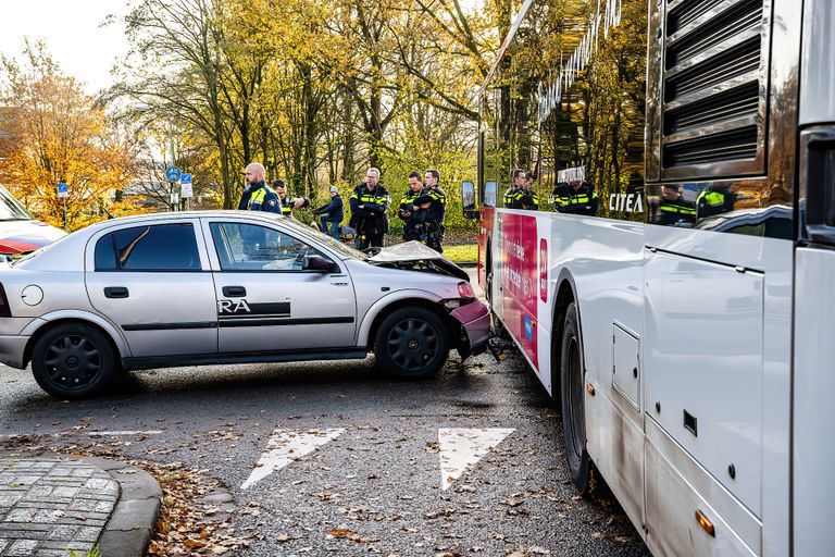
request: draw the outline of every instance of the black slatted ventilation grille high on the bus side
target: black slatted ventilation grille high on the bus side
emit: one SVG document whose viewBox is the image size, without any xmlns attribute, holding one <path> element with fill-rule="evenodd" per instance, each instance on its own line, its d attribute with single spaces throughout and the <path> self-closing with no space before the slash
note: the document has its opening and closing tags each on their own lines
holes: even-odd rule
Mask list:
<svg viewBox="0 0 835 557">
<path fill-rule="evenodd" d="M 662 169 L 666 177 L 764 170 L 763 0 L 669 0 Z"/>
</svg>

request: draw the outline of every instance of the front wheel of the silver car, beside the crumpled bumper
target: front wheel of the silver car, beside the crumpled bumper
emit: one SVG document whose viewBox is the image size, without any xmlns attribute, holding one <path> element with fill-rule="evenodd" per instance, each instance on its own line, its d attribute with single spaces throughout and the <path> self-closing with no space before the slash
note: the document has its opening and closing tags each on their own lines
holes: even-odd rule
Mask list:
<svg viewBox="0 0 835 557">
<path fill-rule="evenodd" d="M 377 364 L 397 379 L 435 375 L 449 355 L 449 331 L 444 321 L 423 308 L 401 308 L 385 318 L 374 339 Z"/>
</svg>

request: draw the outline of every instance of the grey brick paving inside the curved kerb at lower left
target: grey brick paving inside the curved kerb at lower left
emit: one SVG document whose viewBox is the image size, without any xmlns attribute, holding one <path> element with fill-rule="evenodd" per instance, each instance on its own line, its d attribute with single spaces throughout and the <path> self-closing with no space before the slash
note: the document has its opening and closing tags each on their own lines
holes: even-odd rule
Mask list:
<svg viewBox="0 0 835 557">
<path fill-rule="evenodd" d="M 85 462 L 0 459 L 0 557 L 86 555 L 117 499 L 119 484 Z"/>
</svg>

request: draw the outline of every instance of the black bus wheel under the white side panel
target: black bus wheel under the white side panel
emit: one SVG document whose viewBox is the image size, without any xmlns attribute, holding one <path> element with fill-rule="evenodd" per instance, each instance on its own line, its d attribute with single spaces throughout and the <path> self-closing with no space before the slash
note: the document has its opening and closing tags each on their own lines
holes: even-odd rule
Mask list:
<svg viewBox="0 0 835 557">
<path fill-rule="evenodd" d="M 565 310 L 560 358 L 562 428 L 571 479 L 581 494 L 588 495 L 591 492 L 594 465 L 586 451 L 586 420 L 583 411 L 584 383 L 583 345 L 579 342 L 577 306 L 571 302 Z"/>
</svg>

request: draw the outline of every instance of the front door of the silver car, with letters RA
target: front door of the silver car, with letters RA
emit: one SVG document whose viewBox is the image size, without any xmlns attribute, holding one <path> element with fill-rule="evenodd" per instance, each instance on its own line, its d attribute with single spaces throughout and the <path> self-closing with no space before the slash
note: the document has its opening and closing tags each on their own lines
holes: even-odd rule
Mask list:
<svg viewBox="0 0 835 557">
<path fill-rule="evenodd" d="M 357 304 L 338 258 L 279 224 L 204 220 L 212 250 L 221 352 L 345 348 Z M 320 269 L 308 261 L 316 259 Z"/>
</svg>

